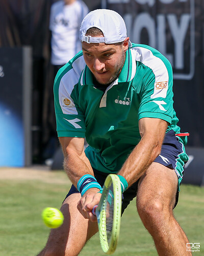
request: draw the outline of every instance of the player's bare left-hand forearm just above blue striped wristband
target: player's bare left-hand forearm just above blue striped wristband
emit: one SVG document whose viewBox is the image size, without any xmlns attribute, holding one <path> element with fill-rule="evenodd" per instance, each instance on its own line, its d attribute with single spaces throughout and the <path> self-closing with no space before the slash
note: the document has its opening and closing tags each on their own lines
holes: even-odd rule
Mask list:
<svg viewBox="0 0 204 256">
<path fill-rule="evenodd" d="M 85 154 L 78 155 L 69 150 L 64 157 L 64 169 L 72 184 L 77 187 L 79 179 L 86 174 L 94 176 L 91 164 Z"/>
</svg>

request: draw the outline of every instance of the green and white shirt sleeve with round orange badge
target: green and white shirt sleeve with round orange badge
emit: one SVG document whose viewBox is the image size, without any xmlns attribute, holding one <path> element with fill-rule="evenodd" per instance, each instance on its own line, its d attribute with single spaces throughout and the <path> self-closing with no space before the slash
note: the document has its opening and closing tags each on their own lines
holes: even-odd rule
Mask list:
<svg viewBox="0 0 204 256">
<path fill-rule="evenodd" d="M 63 71 L 61 71 L 63 73 Z M 55 113 L 58 137 L 85 137 L 84 113 L 79 107 L 79 78 L 71 69 L 59 74 L 54 83 Z"/>
</svg>

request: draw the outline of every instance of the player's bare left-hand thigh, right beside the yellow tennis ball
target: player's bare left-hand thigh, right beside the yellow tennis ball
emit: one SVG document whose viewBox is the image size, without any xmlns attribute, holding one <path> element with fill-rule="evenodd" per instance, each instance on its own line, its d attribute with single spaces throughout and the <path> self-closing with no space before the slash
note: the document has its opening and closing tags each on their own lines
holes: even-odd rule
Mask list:
<svg viewBox="0 0 204 256">
<path fill-rule="evenodd" d="M 52 255 L 78 255 L 86 241 L 97 231 L 97 222 L 90 222 L 80 214 L 77 204 L 81 194 L 68 196 L 61 207 L 64 215 L 63 225 L 51 229 L 46 245 L 46 251 Z M 55 254 L 55 252 L 57 254 Z"/>
</svg>

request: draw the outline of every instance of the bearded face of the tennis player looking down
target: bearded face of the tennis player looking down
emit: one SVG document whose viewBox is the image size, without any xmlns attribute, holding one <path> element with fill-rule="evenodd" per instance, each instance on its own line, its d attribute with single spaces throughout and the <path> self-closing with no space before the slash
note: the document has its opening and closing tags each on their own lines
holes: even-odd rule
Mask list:
<svg viewBox="0 0 204 256">
<path fill-rule="evenodd" d="M 124 64 L 127 49 L 128 39 L 127 42 L 123 42 L 123 45 L 107 45 L 104 42 L 87 44 L 87 42 L 82 42 L 86 65 L 101 84 L 109 84 L 118 77 Z"/>
</svg>

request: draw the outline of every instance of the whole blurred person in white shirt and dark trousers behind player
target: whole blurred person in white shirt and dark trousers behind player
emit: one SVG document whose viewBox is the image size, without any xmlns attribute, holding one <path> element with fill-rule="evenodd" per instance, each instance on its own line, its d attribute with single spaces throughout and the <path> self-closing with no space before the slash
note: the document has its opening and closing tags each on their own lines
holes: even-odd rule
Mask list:
<svg viewBox="0 0 204 256">
<path fill-rule="evenodd" d="M 83 18 L 88 12 L 88 7 L 81 0 L 61 0 L 51 6 L 49 17 L 50 62 L 53 69 L 51 69 L 51 80 L 48 82 L 49 87 L 53 88 L 53 82 L 58 70 L 82 50 L 79 29 Z M 43 159 L 45 164 L 52 165 L 52 158 L 59 146 L 59 142 L 56 133 L 53 90 L 49 88 L 47 91 L 49 92 L 46 104 L 48 106 L 48 124 L 46 122 L 44 125 L 44 131 L 47 131 L 47 140 L 45 140 Z"/>
</svg>

